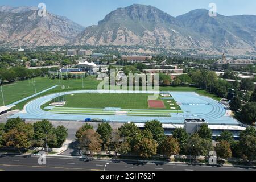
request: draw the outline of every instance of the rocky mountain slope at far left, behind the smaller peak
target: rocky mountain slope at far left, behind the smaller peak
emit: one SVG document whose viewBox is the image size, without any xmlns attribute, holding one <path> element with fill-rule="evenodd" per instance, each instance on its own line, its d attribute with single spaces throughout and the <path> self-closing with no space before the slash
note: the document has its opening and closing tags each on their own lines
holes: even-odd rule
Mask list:
<svg viewBox="0 0 256 182">
<path fill-rule="evenodd" d="M 35 7 L 0 7 L 0 46 L 51 46 L 67 44 L 84 27 L 47 12 L 38 16 Z"/>
</svg>

